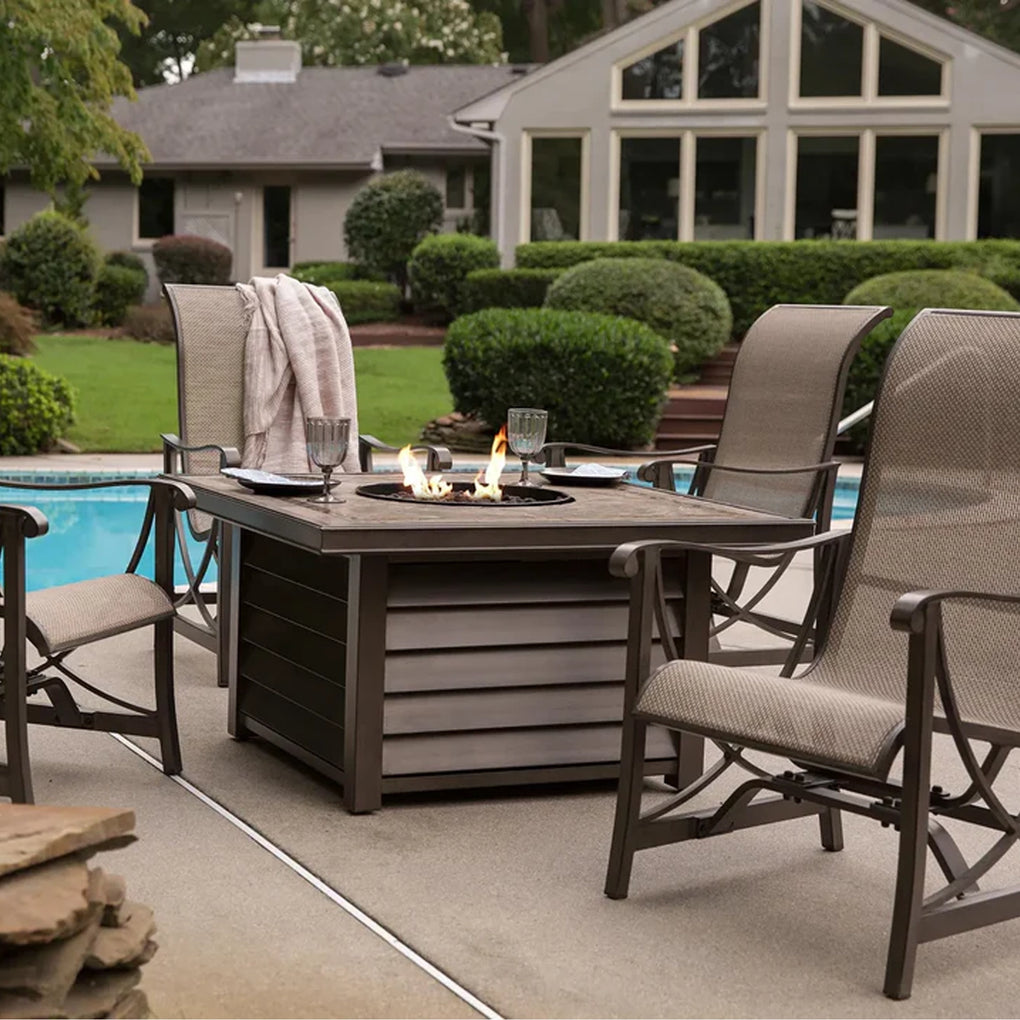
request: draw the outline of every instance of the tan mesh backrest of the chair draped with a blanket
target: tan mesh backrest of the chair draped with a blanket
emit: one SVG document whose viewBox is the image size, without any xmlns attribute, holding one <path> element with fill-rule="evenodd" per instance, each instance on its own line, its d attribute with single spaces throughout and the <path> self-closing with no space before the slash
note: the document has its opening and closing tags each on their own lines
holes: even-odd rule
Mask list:
<svg viewBox="0 0 1020 1020">
<path fill-rule="evenodd" d="M 177 335 L 177 420 L 188 446 L 244 447 L 245 321 L 233 287 L 167 284 Z M 214 474 L 216 454 L 184 455 L 188 474 Z"/>
</svg>

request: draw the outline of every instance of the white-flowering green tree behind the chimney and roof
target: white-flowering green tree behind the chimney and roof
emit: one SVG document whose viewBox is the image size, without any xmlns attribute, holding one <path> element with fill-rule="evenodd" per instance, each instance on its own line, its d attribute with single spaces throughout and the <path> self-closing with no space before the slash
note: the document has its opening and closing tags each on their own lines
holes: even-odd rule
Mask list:
<svg viewBox="0 0 1020 1020">
<path fill-rule="evenodd" d="M 499 18 L 477 13 L 467 0 L 269 0 L 263 21 L 301 43 L 305 64 L 499 63 Z M 239 39 L 255 38 L 258 26 L 232 18 L 199 47 L 196 69 L 228 64 Z"/>
</svg>

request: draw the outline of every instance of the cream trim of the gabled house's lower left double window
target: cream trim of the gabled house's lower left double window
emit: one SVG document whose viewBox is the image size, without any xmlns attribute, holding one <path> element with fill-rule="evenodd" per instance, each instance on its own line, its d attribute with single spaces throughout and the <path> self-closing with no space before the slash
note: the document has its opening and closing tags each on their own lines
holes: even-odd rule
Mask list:
<svg viewBox="0 0 1020 1020">
<path fill-rule="evenodd" d="M 615 129 L 610 137 L 610 167 L 609 181 L 609 222 L 607 239 L 620 239 L 620 140 L 624 138 L 668 138 L 676 139 L 679 146 L 677 160 L 677 175 L 680 182 L 680 194 L 677 198 L 676 241 L 695 240 L 695 200 L 697 198 L 698 140 L 702 138 L 753 138 L 755 139 L 755 233 L 751 239 L 764 239 L 764 217 L 762 210 L 765 203 L 765 131 L 724 128 L 718 130 L 702 129 Z"/>
</svg>

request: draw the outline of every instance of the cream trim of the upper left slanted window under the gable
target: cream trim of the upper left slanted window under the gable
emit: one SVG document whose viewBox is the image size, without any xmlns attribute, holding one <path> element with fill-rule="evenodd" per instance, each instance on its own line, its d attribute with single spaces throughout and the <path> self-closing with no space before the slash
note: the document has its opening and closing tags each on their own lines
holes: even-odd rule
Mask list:
<svg viewBox="0 0 1020 1020">
<path fill-rule="evenodd" d="M 698 34 L 702 29 L 721 21 L 730 14 L 735 14 L 745 7 L 750 7 L 756 0 L 733 0 L 732 3 L 714 11 L 711 15 L 693 21 L 679 32 L 671 33 L 657 40 L 644 49 L 616 61 L 610 74 L 612 92 L 610 96 L 610 111 L 613 113 L 668 113 L 679 110 L 761 110 L 768 106 L 768 65 L 770 56 L 769 33 L 772 23 L 772 0 L 758 0 L 761 4 L 761 18 L 758 30 L 758 95 L 749 99 L 700 99 L 698 93 Z M 623 69 L 630 64 L 673 43 L 683 40 L 683 80 L 681 99 L 623 99 Z"/>
</svg>

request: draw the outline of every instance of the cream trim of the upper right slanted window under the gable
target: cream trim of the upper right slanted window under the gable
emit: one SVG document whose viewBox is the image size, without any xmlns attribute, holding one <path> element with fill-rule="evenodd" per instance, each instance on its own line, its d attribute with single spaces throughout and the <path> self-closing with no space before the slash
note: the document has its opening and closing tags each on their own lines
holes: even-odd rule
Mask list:
<svg viewBox="0 0 1020 1020">
<path fill-rule="evenodd" d="M 803 0 L 790 0 L 792 16 L 789 19 L 792 38 L 789 41 L 789 96 L 790 109 L 795 110 L 825 110 L 864 107 L 880 107 L 881 109 L 942 109 L 950 105 L 953 59 L 947 53 L 932 49 L 923 43 L 909 39 L 902 33 L 879 27 L 876 21 L 869 21 L 857 11 L 852 11 L 834 0 L 814 0 L 838 17 L 864 30 L 863 55 L 861 60 L 861 92 L 856 96 L 801 96 L 801 36 L 803 27 Z M 881 37 L 898 43 L 909 50 L 933 60 L 941 66 L 941 91 L 937 96 L 879 96 L 878 95 L 878 48 Z"/>
</svg>

